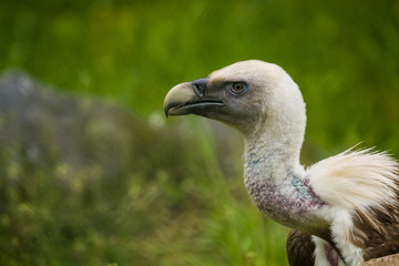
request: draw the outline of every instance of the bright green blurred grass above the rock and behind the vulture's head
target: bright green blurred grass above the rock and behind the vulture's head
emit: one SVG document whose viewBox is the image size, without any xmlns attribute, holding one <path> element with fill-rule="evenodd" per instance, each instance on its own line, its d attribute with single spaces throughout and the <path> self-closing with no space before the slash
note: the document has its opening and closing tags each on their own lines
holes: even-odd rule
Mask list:
<svg viewBox="0 0 399 266">
<path fill-rule="evenodd" d="M 238 60 L 275 62 L 303 90 L 309 140 L 399 153 L 396 0 L 6 0 L 0 23 L 0 69 L 22 66 L 143 115 L 178 82 Z"/>
</svg>

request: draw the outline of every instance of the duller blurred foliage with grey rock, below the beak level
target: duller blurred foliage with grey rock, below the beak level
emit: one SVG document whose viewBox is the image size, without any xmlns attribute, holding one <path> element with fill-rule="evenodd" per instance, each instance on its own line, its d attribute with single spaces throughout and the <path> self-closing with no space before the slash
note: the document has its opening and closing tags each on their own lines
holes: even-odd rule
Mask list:
<svg viewBox="0 0 399 266">
<path fill-rule="evenodd" d="M 0 265 L 284 262 L 287 229 L 249 202 L 236 135 L 163 124 L 0 76 Z"/>
</svg>

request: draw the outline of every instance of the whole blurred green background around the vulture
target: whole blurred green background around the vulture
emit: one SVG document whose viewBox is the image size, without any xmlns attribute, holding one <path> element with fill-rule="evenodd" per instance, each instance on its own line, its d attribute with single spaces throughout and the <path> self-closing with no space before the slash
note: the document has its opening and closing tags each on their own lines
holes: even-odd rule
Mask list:
<svg viewBox="0 0 399 266">
<path fill-rule="evenodd" d="M 0 70 L 84 115 L 53 106 L 11 136 L 0 115 L 0 264 L 286 265 L 288 231 L 250 203 L 239 136 L 162 113 L 176 83 L 246 59 L 301 89 L 306 165 L 359 142 L 399 156 L 399 1 L 2 0 Z"/>
</svg>

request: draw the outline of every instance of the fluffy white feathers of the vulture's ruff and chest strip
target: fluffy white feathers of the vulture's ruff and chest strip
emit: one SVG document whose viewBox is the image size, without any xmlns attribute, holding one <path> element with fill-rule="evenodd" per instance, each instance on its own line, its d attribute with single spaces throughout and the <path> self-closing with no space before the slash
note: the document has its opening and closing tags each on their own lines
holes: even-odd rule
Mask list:
<svg viewBox="0 0 399 266">
<path fill-rule="evenodd" d="M 389 212 L 387 205 L 398 205 L 398 162 L 385 152 L 350 149 L 316 163 L 307 171 L 315 193 L 328 204 L 320 213 L 330 221 L 334 241 L 347 264 L 364 262 L 361 248 L 354 244 L 352 215 L 361 212 L 366 216 L 361 218 L 380 231 L 383 225 L 371 208 Z M 317 241 L 315 244 L 316 248 L 320 245 Z M 319 250 L 317 256 L 325 255 Z"/>
</svg>

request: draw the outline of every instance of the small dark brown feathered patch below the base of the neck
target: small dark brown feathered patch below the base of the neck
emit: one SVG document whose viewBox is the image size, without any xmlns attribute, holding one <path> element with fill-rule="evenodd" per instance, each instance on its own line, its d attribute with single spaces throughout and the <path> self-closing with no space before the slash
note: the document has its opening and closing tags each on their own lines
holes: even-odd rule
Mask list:
<svg viewBox="0 0 399 266">
<path fill-rule="evenodd" d="M 287 255 L 289 266 L 314 266 L 315 244 L 311 235 L 291 231 L 287 238 Z"/>
</svg>

